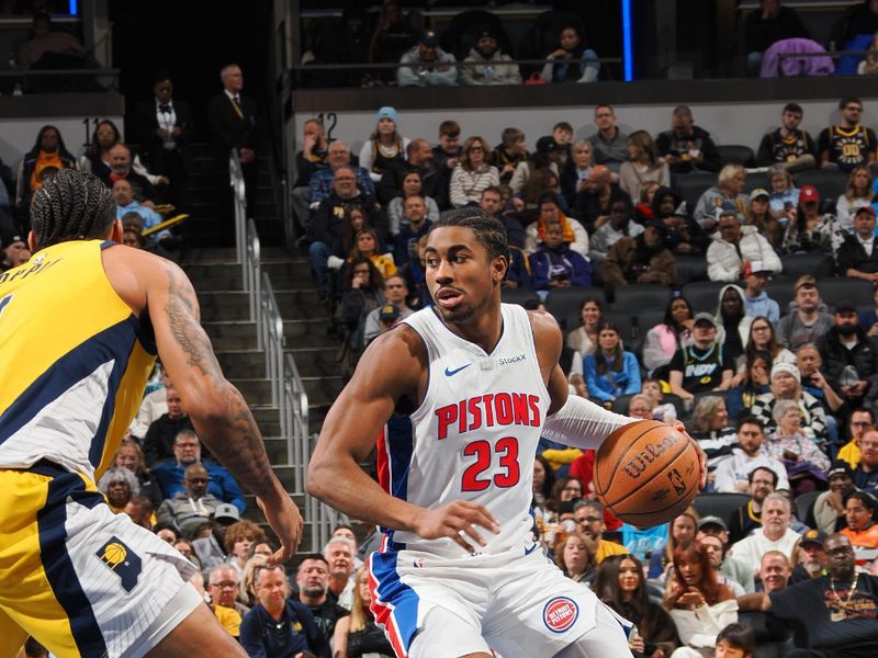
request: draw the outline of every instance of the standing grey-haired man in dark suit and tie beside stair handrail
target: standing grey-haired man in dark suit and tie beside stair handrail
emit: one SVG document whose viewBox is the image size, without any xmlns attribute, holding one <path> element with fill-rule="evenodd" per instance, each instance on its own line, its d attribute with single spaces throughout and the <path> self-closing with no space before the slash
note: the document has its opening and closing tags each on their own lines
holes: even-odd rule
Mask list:
<svg viewBox="0 0 878 658">
<path fill-rule="evenodd" d="M 256 198 L 257 107 L 256 101 L 241 94 L 244 73 L 237 64 L 228 64 L 219 71 L 223 93 L 207 102 L 207 122 L 213 140 L 223 149 L 223 161 L 233 147 L 238 149 L 247 186 L 247 205 L 252 208 Z"/>
</svg>

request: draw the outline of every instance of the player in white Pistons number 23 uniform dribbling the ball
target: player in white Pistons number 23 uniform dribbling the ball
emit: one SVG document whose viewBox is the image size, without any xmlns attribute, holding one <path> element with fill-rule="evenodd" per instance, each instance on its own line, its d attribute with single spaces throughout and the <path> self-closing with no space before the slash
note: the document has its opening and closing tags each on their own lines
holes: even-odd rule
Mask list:
<svg viewBox="0 0 878 658">
<path fill-rule="evenodd" d="M 547 559 L 528 512 L 540 435 L 597 447 L 633 419 L 567 398 L 554 319 L 500 304 L 507 253 L 481 209 L 442 215 L 426 249 L 436 306 L 365 351 L 307 488 L 382 527 L 372 611 L 397 656 L 618 658 L 630 623 Z M 380 484 L 358 466 L 376 439 Z"/>
</svg>

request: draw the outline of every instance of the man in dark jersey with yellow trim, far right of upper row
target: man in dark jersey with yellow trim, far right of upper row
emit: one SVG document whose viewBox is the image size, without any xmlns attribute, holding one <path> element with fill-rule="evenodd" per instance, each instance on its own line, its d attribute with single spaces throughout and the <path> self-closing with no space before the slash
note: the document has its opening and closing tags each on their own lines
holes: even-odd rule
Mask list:
<svg viewBox="0 0 878 658">
<path fill-rule="evenodd" d="M 862 125 L 863 101 L 847 97 L 838 102 L 842 122 L 823 128 L 818 136 L 820 166 L 829 169 L 853 171 L 860 164 L 875 160 L 875 131 Z"/>
</svg>

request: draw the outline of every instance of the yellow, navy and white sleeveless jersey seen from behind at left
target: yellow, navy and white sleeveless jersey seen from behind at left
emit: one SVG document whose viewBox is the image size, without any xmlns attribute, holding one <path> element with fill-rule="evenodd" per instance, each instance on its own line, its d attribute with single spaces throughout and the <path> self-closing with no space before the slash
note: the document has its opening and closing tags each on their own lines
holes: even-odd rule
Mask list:
<svg viewBox="0 0 878 658">
<path fill-rule="evenodd" d="M 112 247 L 61 242 L 0 274 L 0 468 L 95 479 L 136 413 L 156 351 L 106 279 Z"/>
</svg>

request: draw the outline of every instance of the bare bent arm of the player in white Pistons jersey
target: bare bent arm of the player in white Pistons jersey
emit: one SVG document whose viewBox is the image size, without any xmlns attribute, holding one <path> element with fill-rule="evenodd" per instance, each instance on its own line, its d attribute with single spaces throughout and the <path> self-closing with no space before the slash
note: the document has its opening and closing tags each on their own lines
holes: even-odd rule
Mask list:
<svg viewBox="0 0 878 658">
<path fill-rule="evenodd" d="M 369 345 L 323 423 L 308 465 L 307 490 L 352 519 L 414 532 L 425 540 L 448 537 L 470 552 L 472 545 L 485 544 L 474 525 L 497 531 L 485 508 L 459 500 L 427 510 L 391 496 L 359 466 L 397 402 L 423 397 L 425 367 L 424 344 L 405 325 Z"/>
</svg>

